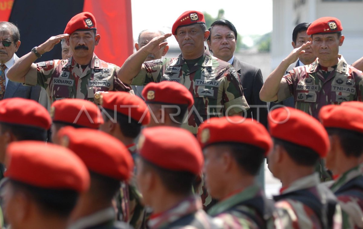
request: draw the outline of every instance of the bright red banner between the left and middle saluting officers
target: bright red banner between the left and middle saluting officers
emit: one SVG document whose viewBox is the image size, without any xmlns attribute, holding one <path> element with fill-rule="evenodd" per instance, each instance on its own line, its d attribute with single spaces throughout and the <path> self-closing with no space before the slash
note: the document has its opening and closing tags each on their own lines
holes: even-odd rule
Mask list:
<svg viewBox="0 0 363 229">
<path fill-rule="evenodd" d="M 121 66 L 133 52 L 131 0 L 85 0 L 83 12 L 91 12 L 101 35 L 95 54 Z"/>
</svg>

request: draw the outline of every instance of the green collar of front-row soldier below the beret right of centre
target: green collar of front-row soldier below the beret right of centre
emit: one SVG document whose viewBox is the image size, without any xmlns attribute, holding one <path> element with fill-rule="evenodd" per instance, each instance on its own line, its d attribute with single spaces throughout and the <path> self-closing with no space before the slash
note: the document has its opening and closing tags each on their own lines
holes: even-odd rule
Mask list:
<svg viewBox="0 0 363 229">
<path fill-rule="evenodd" d="M 252 199 L 255 196 L 261 195 L 261 188 L 258 187 L 256 184 L 253 184 L 241 192 L 234 194 L 233 196 L 228 197 L 214 205 L 208 211 L 208 215 L 216 216 L 222 212 L 227 211 L 228 209 L 232 208 L 234 205 L 241 203 L 242 201 Z"/>
</svg>

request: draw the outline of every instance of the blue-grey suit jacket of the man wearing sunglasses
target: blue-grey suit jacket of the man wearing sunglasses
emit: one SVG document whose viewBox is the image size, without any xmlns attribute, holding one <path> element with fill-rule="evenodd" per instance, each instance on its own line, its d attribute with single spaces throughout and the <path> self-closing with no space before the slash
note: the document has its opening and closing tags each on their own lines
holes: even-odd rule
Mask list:
<svg viewBox="0 0 363 229">
<path fill-rule="evenodd" d="M 15 61 L 17 61 L 18 59 L 19 57 L 15 55 Z M 34 87 L 23 86 L 22 83 L 16 83 L 12 82 L 11 80 L 8 80 L 8 84 L 5 88 L 4 99 L 21 97 L 24 99 L 32 99 L 39 102 L 40 90 L 41 90 L 40 86 L 34 86 Z"/>
</svg>

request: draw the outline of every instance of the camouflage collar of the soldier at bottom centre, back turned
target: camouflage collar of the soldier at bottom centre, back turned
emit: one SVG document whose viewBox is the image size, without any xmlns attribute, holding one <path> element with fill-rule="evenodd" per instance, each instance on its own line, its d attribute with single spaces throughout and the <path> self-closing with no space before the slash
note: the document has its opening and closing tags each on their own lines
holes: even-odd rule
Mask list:
<svg viewBox="0 0 363 229">
<path fill-rule="evenodd" d="M 151 229 L 161 227 L 167 228 L 168 224 L 175 222 L 183 216 L 195 213 L 200 209 L 202 209 L 200 198 L 197 196 L 189 196 L 168 211 L 151 215 L 148 226 Z"/>
</svg>

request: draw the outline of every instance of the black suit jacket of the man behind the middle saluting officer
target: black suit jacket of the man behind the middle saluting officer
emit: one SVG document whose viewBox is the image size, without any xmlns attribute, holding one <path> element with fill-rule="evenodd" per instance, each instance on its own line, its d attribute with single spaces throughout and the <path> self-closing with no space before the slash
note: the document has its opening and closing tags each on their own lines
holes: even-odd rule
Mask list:
<svg viewBox="0 0 363 229">
<path fill-rule="evenodd" d="M 267 103 L 260 100 L 260 91 L 264 84 L 261 69 L 251 64 L 238 61 L 236 57 L 234 57 L 232 65 L 238 74 L 240 74 L 243 93 L 250 106 L 250 109 L 247 111 L 247 117 L 253 117 L 254 120 L 258 120 L 261 124 L 267 126 Z M 264 107 L 258 109 L 257 107 L 251 107 L 253 105 L 262 105 Z M 259 115 L 257 115 L 257 112 Z"/>
</svg>

